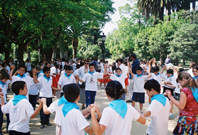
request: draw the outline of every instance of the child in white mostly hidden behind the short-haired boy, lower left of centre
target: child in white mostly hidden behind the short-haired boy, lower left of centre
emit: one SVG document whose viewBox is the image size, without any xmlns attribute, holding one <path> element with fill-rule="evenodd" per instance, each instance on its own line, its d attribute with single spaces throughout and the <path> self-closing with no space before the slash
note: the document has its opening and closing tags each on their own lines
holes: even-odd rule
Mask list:
<svg viewBox="0 0 198 135">
<path fill-rule="evenodd" d="M 63 87 L 63 90 L 65 91 L 66 88 L 68 88 L 67 85 L 65 85 Z M 56 112 L 55 119 L 54 119 L 54 123 L 56 124 L 56 134 L 61 135 L 61 132 L 62 132 L 62 129 L 61 129 L 62 108 L 63 108 L 63 105 L 65 103 L 67 103 L 65 96 L 63 95 L 59 100 L 54 101 L 49 107 L 47 107 L 47 105 L 46 105 L 46 98 L 42 98 L 41 101 L 43 102 L 43 112 L 45 114 L 50 114 L 50 113 Z M 84 109 L 82 111 L 82 114 L 84 115 L 84 117 L 87 117 L 90 114 L 90 111 L 91 111 L 91 107 L 89 106 L 87 109 Z"/>
</svg>

